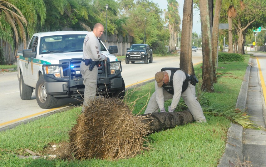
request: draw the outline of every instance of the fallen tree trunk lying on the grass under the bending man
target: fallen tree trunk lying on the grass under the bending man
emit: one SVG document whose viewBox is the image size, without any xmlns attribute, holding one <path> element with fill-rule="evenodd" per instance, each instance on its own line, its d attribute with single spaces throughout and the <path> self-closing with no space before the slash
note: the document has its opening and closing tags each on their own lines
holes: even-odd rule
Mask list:
<svg viewBox="0 0 266 167">
<path fill-rule="evenodd" d="M 189 110 L 172 113 L 150 113 L 142 114 L 141 116 L 147 117 L 141 120 L 141 122 L 148 125 L 148 131 L 151 133 L 174 128 L 177 125 L 184 125 L 194 121 Z"/>
</svg>

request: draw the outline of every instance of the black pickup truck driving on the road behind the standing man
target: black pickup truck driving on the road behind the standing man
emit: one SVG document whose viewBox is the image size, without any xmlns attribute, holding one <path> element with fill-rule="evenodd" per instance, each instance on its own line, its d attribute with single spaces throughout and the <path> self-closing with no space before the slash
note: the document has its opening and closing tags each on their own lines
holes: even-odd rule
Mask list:
<svg viewBox="0 0 266 167">
<path fill-rule="evenodd" d="M 152 63 L 152 49 L 147 44 L 133 44 L 130 48 L 126 48 L 126 64 L 130 61 L 135 63 L 142 61 L 145 64 Z"/>
</svg>

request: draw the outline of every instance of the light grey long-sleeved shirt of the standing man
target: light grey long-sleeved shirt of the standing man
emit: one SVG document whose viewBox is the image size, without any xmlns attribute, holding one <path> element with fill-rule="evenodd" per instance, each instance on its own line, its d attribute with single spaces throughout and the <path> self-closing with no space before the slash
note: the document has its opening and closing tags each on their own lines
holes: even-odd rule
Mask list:
<svg viewBox="0 0 266 167">
<path fill-rule="evenodd" d="M 95 34 L 89 32 L 83 42 L 82 59 L 92 59 L 93 61 L 103 61 L 105 56 L 101 54 L 101 44 Z"/>
</svg>

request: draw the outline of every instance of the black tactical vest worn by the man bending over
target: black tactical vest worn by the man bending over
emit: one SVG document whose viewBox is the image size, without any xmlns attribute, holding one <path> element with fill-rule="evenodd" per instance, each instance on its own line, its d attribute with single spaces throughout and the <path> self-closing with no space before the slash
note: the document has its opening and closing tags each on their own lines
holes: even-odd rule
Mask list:
<svg viewBox="0 0 266 167">
<path fill-rule="evenodd" d="M 161 71 L 166 71 L 166 70 L 170 70 L 171 71 L 170 82 L 169 82 L 169 84 L 163 84 L 162 88 L 164 88 L 168 93 L 174 94 L 174 85 L 173 85 L 174 73 L 177 70 L 182 70 L 182 69 L 181 68 L 173 68 L 173 67 L 165 67 L 165 68 L 161 69 Z M 184 70 L 182 70 L 182 71 L 185 73 Z M 182 93 L 185 92 L 185 90 L 188 88 L 188 85 L 190 84 L 190 78 L 189 78 L 188 74 L 185 73 L 185 75 L 186 75 L 186 79 L 185 79 L 185 81 L 183 82 L 183 85 L 182 85 Z"/>
</svg>

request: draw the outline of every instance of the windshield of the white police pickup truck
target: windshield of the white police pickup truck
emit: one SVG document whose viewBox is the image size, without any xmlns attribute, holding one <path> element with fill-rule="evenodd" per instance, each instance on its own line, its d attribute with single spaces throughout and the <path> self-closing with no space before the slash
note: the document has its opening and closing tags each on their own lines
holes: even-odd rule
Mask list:
<svg viewBox="0 0 266 167">
<path fill-rule="evenodd" d="M 41 38 L 40 53 L 82 52 L 86 34 L 47 36 Z"/>
</svg>

